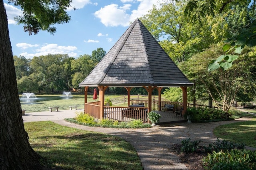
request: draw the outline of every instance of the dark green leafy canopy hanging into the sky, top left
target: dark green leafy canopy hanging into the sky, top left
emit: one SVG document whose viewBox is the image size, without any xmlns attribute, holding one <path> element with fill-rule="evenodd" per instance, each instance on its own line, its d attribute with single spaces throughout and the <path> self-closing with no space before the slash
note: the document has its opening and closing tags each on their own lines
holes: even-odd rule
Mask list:
<svg viewBox="0 0 256 170">
<path fill-rule="evenodd" d="M 37 34 L 40 30 L 54 34 L 56 32 L 54 24 L 64 24 L 71 20 L 66 10 L 72 0 L 9 0 L 8 2 L 20 6 L 23 14 L 14 19 L 18 24 L 24 24 L 24 31 L 29 35 Z"/>
</svg>

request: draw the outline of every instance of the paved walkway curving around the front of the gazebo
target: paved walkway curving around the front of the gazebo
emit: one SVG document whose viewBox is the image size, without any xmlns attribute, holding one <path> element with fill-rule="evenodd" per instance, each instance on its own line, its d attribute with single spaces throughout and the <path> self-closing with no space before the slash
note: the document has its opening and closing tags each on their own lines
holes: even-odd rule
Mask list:
<svg viewBox="0 0 256 170">
<path fill-rule="evenodd" d="M 82 109 L 77 110 L 82 111 Z M 202 145 L 216 142 L 213 129 L 218 125 L 235 123 L 238 121 L 223 121 L 212 123 L 172 123 L 143 129 L 117 129 L 86 127 L 64 121 L 64 118 L 73 118 L 76 111 L 46 111 L 26 113 L 22 116 L 24 122 L 53 121 L 63 126 L 102 132 L 124 138 L 136 148 L 144 170 L 187 170 L 180 163 L 179 158 L 172 153 L 175 144 L 181 144 L 185 138 L 203 140 Z M 254 149 L 254 148 L 252 148 Z"/>
</svg>

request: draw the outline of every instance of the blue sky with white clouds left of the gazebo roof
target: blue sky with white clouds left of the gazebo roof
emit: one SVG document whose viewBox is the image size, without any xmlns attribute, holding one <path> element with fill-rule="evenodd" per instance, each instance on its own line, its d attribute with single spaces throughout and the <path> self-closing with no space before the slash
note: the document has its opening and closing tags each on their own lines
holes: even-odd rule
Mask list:
<svg viewBox="0 0 256 170">
<path fill-rule="evenodd" d="M 161 0 L 160 0 L 161 1 Z M 17 25 L 14 17 L 22 15 L 18 6 L 4 6 L 8 16 L 8 28 L 12 53 L 33 58 L 47 54 L 68 54 L 70 57 L 91 55 L 93 50 L 103 48 L 108 52 L 136 18 L 148 13 L 159 0 L 73 0 L 68 9 L 71 21 L 54 25 L 54 35 L 40 31 L 31 36 Z"/>
</svg>

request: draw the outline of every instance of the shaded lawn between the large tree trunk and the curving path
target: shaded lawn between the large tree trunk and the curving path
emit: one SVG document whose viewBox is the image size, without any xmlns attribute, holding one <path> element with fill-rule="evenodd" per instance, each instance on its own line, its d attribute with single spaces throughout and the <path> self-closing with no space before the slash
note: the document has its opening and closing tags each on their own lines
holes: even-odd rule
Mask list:
<svg viewBox="0 0 256 170">
<path fill-rule="evenodd" d="M 50 121 L 24 123 L 24 127 L 30 145 L 48 168 L 143 170 L 136 150 L 121 138 Z"/>
</svg>

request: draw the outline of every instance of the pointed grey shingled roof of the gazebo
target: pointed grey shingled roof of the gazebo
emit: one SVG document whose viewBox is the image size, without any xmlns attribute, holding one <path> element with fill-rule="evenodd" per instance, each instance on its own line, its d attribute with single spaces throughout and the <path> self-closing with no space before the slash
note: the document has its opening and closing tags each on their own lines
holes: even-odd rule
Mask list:
<svg viewBox="0 0 256 170">
<path fill-rule="evenodd" d="M 192 86 L 137 18 L 80 87 Z"/>
</svg>

